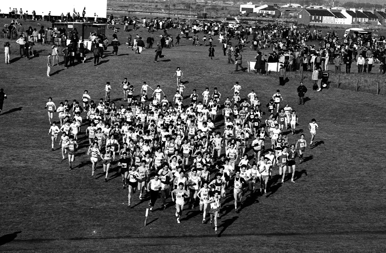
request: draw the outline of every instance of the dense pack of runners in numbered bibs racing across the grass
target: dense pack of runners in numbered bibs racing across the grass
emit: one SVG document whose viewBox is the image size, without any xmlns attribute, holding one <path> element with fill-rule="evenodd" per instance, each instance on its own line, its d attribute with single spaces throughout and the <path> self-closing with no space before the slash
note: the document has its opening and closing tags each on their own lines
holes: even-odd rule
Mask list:
<svg viewBox="0 0 386 253">
<path fill-rule="evenodd" d="M 203 223 L 210 206 L 210 223 L 214 221 L 217 233 L 221 199 L 227 191 L 232 189 L 239 212 L 247 191 L 257 198 L 267 194 L 272 184 L 295 183 L 296 163 L 302 162 L 307 141 L 301 134 L 295 143 L 288 142 L 287 134 L 298 134 L 298 116 L 289 104 L 283 105 L 280 90 L 264 106 L 253 89 L 248 98 L 240 99 L 240 92 L 247 92 L 239 82 L 233 85 L 231 98 L 223 98 L 217 87 L 193 89 L 185 96 L 182 70 L 177 68 L 174 76 L 176 92 L 168 96 L 160 85 L 153 89 L 146 82 L 136 92 L 125 78 L 120 85 L 124 102 L 115 100 L 119 104 L 110 100 L 110 82 L 105 85 L 105 98 L 97 102 L 87 90 L 81 101 L 65 100 L 58 107 L 50 97 L 46 108 L 51 148 L 54 151 L 60 136 L 62 159 L 68 157 L 71 170 L 76 167 L 78 141 L 83 140 L 91 176 L 100 170 L 107 182 L 109 169 L 117 166 L 122 188 L 128 189 L 129 206 L 136 191 L 141 201 L 150 199 L 151 212 L 158 198 L 164 209 L 171 196 L 178 223 L 186 201 L 189 208 L 199 206 L 203 211 Z M 59 121 L 52 121 L 54 112 Z M 315 119 L 308 128 L 311 146 L 318 128 Z"/>
</svg>

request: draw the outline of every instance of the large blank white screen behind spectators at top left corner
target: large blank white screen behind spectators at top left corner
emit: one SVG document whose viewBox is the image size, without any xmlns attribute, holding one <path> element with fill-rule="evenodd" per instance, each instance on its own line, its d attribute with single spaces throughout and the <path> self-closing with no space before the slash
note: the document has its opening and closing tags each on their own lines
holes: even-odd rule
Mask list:
<svg viewBox="0 0 386 253">
<path fill-rule="evenodd" d="M 63 12 L 66 15 L 68 12 L 73 14 L 74 8 L 76 12 L 80 13 L 82 17 L 83 8 L 86 7 L 86 17 L 94 17 L 94 13 L 100 18 L 105 18 L 107 13 L 107 0 L 82 0 L 82 1 L 66 1 L 66 2 L 56 2 L 52 0 L 18 0 L 15 2 L 3 1 L 0 0 L 0 10 L 2 13 L 8 13 L 9 8 L 17 8 L 17 13 L 19 14 L 20 8 L 23 12 L 28 11 L 29 15 L 32 15 L 32 11 L 36 12 L 36 15 L 48 15 L 48 12 L 51 11 L 52 16 L 60 16 Z"/>
</svg>

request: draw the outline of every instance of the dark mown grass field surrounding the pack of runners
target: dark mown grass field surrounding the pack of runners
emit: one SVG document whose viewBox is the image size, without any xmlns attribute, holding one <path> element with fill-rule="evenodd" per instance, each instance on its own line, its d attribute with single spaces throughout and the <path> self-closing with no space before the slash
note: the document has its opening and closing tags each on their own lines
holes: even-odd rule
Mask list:
<svg viewBox="0 0 386 253">
<path fill-rule="evenodd" d="M 29 23 L 32 24 L 26 25 Z M 177 32 L 172 34 L 175 36 Z M 148 36 L 143 28 L 131 32 L 137 33 Z M 158 35 L 154 34 L 155 38 Z M 125 42 L 125 35 L 118 36 Z M 11 47 L 15 50 L 17 45 L 13 42 Z M 1 57 L 1 87 L 8 99 L 0 115 L 0 251 L 386 250 L 384 96 L 335 87 L 315 92 L 306 79 L 308 101 L 298 106 L 299 79 L 291 78 L 281 87 L 275 75 L 234 72 L 235 65 L 227 64 L 219 44 L 215 47 L 215 59 L 210 60 L 208 47 L 193 47 L 191 40 L 185 39 L 180 47 L 163 50 L 166 60 L 161 62 L 153 63 L 154 49 L 139 55 L 121 45 L 119 57 L 111 56 L 109 47 L 102 64 L 93 66 L 89 54 L 85 64 L 69 69 L 64 69 L 64 65 L 53 67 L 54 75 L 49 78 L 45 56 L 50 49 L 48 46 L 36 49 L 39 57 L 14 59 L 11 65 L 5 65 Z M 254 53 L 249 49 L 244 51 L 245 65 Z M 193 89 L 202 93 L 205 87 L 212 90 L 217 86 L 225 98 L 232 95 L 230 88 L 239 81 L 241 97 L 254 89 L 264 105 L 279 88 L 284 103 L 288 102 L 299 116 L 299 133 L 289 136 L 289 143 L 296 142 L 300 132 L 309 141 L 307 125 L 313 117 L 319 124 L 317 145 L 306 150 L 305 163 L 297 164 L 296 183 L 276 184 L 275 177 L 267 197 L 246 195 L 240 214 L 234 212 L 233 196 L 228 195 L 222 207 L 218 236 L 209 224 L 201 224 L 197 208 L 185 210 L 181 224 L 177 224 L 173 203 L 161 211 L 159 199 L 156 211 L 149 215 L 148 225 L 144 227 L 147 201 L 140 203 L 135 194 L 134 208 L 127 207 L 127 189 L 122 189 L 118 168 L 112 167 L 108 183 L 103 181 L 100 162 L 97 176 L 90 176 L 91 164 L 85 155 L 88 140 L 84 134 L 75 158 L 77 167 L 72 171 L 68 170 L 67 161 L 61 161 L 58 144 L 51 152 L 44 109 L 48 97 L 53 97 L 56 105 L 64 99 L 79 101 L 83 90 L 88 89 L 91 98 L 98 100 L 104 97 L 105 82 L 110 81 L 112 99 L 120 104 L 123 101 L 119 85 L 124 77 L 138 89 L 143 81 L 153 88 L 160 84 L 170 97 L 175 92 L 173 74 L 177 66 L 184 72 L 183 80 L 189 81 L 186 93 Z M 188 100 L 185 101 L 187 104 Z M 277 173 L 275 168 L 274 174 Z"/>
</svg>

